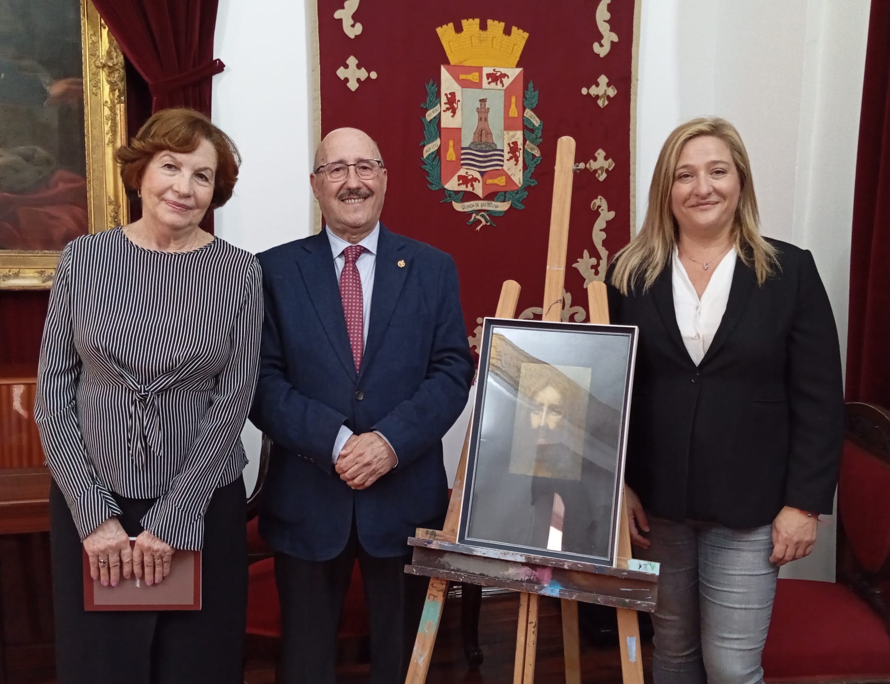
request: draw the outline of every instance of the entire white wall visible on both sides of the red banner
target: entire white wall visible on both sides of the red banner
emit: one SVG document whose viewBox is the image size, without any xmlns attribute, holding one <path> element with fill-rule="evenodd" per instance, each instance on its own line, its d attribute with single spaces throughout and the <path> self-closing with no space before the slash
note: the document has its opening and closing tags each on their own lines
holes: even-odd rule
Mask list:
<svg viewBox="0 0 890 684">
<path fill-rule="evenodd" d="M 813 251 L 846 343 L 855 150 L 869 0 L 642 0 L 636 216 L 645 213 L 661 143 L 679 123 L 716 114 L 740 130 L 766 235 Z M 263 12 L 220 0 L 214 121 L 245 161 L 217 232 L 259 251 L 309 234 L 312 98 L 305 7 Z M 301 38 L 303 38 L 301 42 Z M 467 416 L 447 441 L 453 473 Z M 258 449 L 247 428 L 248 452 Z M 247 479 L 254 477 L 248 469 Z M 250 484 L 248 483 L 248 487 Z M 834 528 L 821 525 L 797 576 L 830 579 Z"/>
</svg>

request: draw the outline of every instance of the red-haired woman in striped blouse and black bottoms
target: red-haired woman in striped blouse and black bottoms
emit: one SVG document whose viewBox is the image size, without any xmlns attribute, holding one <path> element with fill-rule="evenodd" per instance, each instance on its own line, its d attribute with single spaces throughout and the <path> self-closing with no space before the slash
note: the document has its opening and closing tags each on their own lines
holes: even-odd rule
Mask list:
<svg viewBox="0 0 890 684">
<path fill-rule="evenodd" d="M 46 317 L 36 419 L 50 496 L 60 682 L 240 682 L 246 459 L 263 295 L 254 256 L 198 223 L 238 178 L 231 139 L 163 110 L 117 151 L 132 224 L 72 241 Z M 129 538 L 134 537 L 133 550 Z M 203 550 L 196 612 L 87 612 L 94 580 L 163 582 Z"/>
</svg>

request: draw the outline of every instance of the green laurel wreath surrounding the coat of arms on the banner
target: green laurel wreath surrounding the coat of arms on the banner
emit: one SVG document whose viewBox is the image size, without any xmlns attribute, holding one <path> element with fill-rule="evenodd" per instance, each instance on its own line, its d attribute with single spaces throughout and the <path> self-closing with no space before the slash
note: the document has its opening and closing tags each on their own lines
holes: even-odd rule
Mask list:
<svg viewBox="0 0 890 684">
<path fill-rule="evenodd" d="M 525 89 L 525 93 L 522 95 L 522 104 L 524 105 L 526 110 L 534 110 L 535 107 L 538 106 L 538 91 L 535 90 L 533 81 L 529 81 L 529 86 Z M 429 111 L 434 109 L 438 105 L 439 84 L 431 80 L 428 84 L 426 84 L 426 102 L 424 102 L 420 106 L 426 111 Z M 439 138 L 440 118 L 441 112 L 436 114 L 431 119 L 427 119 L 425 116 L 420 118 L 420 120 L 424 123 L 424 142 L 421 142 L 422 145 L 426 146 L 432 142 L 435 142 Z M 525 125 L 525 130 L 523 131 L 523 133 L 525 134 L 525 139 L 528 142 L 531 142 L 531 144 L 539 147 L 544 134 L 544 122 L 538 118 L 538 124 L 536 125 L 530 118 L 523 116 L 522 123 Z M 510 207 L 514 209 L 525 208 L 525 205 L 522 204 L 522 201 L 529 195 L 529 191 L 527 190 L 527 188 L 538 184 L 538 181 L 536 181 L 531 176 L 535 173 L 535 168 L 538 167 L 538 164 L 541 163 L 541 158 L 536 157 L 528 150 L 523 150 L 523 157 L 525 158 L 525 170 L 522 172 L 522 185 L 516 190 L 511 190 L 509 192 L 498 192 L 498 194 L 492 201 L 510 202 Z M 445 188 L 444 185 L 442 185 L 440 159 L 441 156 L 439 155 L 439 150 L 430 152 L 422 159 L 423 163 L 421 166 L 426 172 L 426 186 L 430 190 L 445 191 L 445 197 L 444 199 L 440 200 L 441 202 L 457 202 L 457 204 L 460 204 L 464 201 L 464 191 L 457 192 L 449 190 L 448 188 Z M 491 220 L 491 216 L 504 216 L 504 212 L 500 210 L 483 211 L 480 212 L 480 214 L 484 215 L 488 220 L 488 223 L 490 223 L 491 225 L 496 225 Z M 476 219 L 471 218 L 469 221 L 466 222 L 466 224 L 472 224 L 474 220 Z"/>
</svg>

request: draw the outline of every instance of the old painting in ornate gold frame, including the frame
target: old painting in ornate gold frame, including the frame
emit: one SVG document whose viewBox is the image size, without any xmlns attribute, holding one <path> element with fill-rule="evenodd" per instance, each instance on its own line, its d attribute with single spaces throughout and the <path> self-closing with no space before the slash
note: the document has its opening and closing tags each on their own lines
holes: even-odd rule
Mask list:
<svg viewBox="0 0 890 684">
<path fill-rule="evenodd" d="M 128 220 L 124 58 L 90 0 L 0 0 L 0 288 L 48 289 L 61 249 Z"/>
</svg>

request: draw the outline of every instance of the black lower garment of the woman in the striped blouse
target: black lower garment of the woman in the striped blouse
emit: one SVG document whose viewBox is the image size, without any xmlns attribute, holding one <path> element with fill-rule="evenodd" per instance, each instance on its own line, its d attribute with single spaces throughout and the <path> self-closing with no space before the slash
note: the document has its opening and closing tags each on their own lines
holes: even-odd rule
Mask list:
<svg viewBox="0 0 890 684">
<path fill-rule="evenodd" d="M 153 501 L 115 496 L 130 536 Z M 201 610 L 86 612 L 83 544 L 65 498 L 50 491 L 59 684 L 241 684 L 247 620 L 244 482 L 214 493 L 204 517 Z"/>
</svg>

